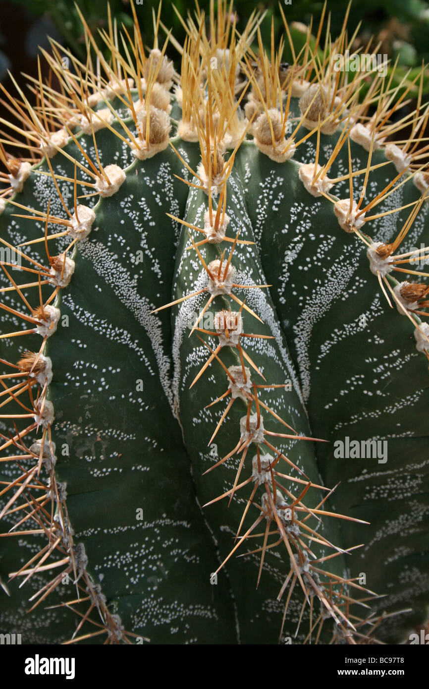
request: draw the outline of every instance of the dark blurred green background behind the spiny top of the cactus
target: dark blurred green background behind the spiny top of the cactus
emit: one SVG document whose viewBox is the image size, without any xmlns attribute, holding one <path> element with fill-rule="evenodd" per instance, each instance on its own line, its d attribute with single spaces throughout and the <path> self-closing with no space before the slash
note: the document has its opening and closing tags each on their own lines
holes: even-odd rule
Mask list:
<svg viewBox="0 0 429 689">
<path fill-rule="evenodd" d="M 98 28 L 107 27 L 106 0 L 78 0 L 88 25 L 96 35 Z M 176 0 L 174 2 L 181 17 L 193 12 L 193 0 Z M 217 3 L 215 3 L 217 4 Z M 238 14 L 238 28 L 244 28 L 253 8 L 266 10 L 266 19 L 262 25 L 262 37 L 269 45 L 271 17 L 274 18 L 275 34 L 278 38 L 283 32 L 283 23 L 279 2 L 264 0 L 236 0 L 234 8 Z M 209 12 L 209 0 L 200 0 L 202 10 Z M 313 27 L 322 14 L 324 3 L 314 0 L 291 0 L 291 4 L 282 1 L 287 21 L 300 21 L 308 25 L 313 15 Z M 331 12 L 331 34 L 336 36 L 342 27 L 348 0 L 328 0 L 327 11 Z M 132 12 L 129 0 L 111 0 L 112 15 L 118 25 L 124 23 L 132 26 Z M 136 5 L 140 30 L 143 39 L 151 43 L 152 10 L 158 10 L 158 1 L 143 0 Z M 167 27 L 173 28 L 178 41 L 182 42 L 185 30 L 171 8 L 171 2 L 164 0 L 161 19 Z M 355 0 L 350 8 L 348 31 L 351 35 L 361 22 L 358 32 L 359 45 L 366 45 L 372 35 L 381 40 L 381 50 L 393 59 L 399 54 L 399 64 L 404 67 L 418 67 L 421 61 L 429 62 L 429 3 L 423 0 L 372 0 L 363 3 Z M 326 25 L 326 21 L 325 21 Z M 315 31 L 313 31 L 315 32 Z M 12 0 L 0 2 L 0 78 L 3 78 L 8 61 L 12 71 L 17 74 L 21 69 L 30 70 L 34 62 L 36 46 L 48 46 L 46 34 L 63 42 L 73 52 L 83 58 L 85 45 L 79 15 L 71 0 Z M 322 34 L 323 35 L 323 34 Z M 171 50 L 174 49 L 171 46 Z M 171 51 L 170 51 L 171 52 Z M 174 56 L 173 54 L 171 56 Z"/>
</svg>

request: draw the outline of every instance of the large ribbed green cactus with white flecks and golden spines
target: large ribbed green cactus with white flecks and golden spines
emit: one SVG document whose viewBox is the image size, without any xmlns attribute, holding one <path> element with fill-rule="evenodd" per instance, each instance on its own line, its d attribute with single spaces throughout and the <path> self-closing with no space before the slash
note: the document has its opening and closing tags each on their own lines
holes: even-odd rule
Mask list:
<svg viewBox="0 0 429 689">
<path fill-rule="evenodd" d="M 133 12 L 109 63 L 81 17 L 85 61 L 53 44 L 52 79 L 3 89 L 1 629 L 404 643 L 429 593 L 423 70 L 338 70 L 347 17 L 285 63 L 286 17 L 267 51 L 256 11 L 197 7 L 183 45 L 158 14 L 148 49 Z"/>
</svg>

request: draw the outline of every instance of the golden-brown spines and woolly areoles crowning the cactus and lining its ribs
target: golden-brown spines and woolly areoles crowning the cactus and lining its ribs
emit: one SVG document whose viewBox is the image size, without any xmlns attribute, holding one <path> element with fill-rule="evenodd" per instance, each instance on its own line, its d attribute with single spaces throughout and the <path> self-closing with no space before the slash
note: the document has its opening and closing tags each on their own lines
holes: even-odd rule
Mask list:
<svg viewBox="0 0 429 689">
<path fill-rule="evenodd" d="M 30 96 L 16 82 L 16 96 L 1 86 L 5 103 L 19 122 L 1 123 L 1 159 L 6 167 L 1 175 L 1 212 L 10 212 L 17 218 L 16 223 L 21 218 L 31 219 L 44 229 L 40 238 L 19 247 L 1 238 L 2 246 L 19 259 L 21 271 L 13 273 L 12 263 L 3 260 L 3 274 L 9 285 L 1 289 L 1 308 L 11 324 L 17 319 L 26 324 L 25 329 L 15 327 L 1 338 L 10 342 L 12 338 L 21 341 L 23 336 L 41 336 L 39 349 L 28 351 L 22 347 L 18 361 L 2 359 L 6 374 L 1 376 L 4 392 L 0 406 L 5 411 L 1 419 L 10 422 L 10 431 L 1 433 L 1 461 L 16 464 L 19 471 L 1 490 L 1 495 L 7 497 L 1 517 L 12 513 L 17 516 L 11 533 L 18 537 L 30 533 L 45 537 L 40 551 L 12 573 L 12 578 L 21 577 L 26 582 L 54 569 L 54 577 L 32 595 L 30 600 L 35 602 L 30 613 L 59 588 L 64 577 L 72 578 L 76 595 L 67 606 L 81 619 L 70 643 L 101 635 L 106 635 L 107 643 L 131 643 L 138 637 L 134 630 L 124 630 L 121 618 L 109 610 L 103 586 L 95 584 L 90 574 L 85 548 L 74 542 L 67 486 L 56 475 L 52 432 L 57 410 L 50 401 L 55 370 L 48 351 L 55 347 L 61 293 L 73 285 L 79 246 L 96 226 L 103 204 L 111 197 L 114 200 L 127 178 L 136 174 L 136 166 L 168 151 L 187 173 L 186 178 L 176 177 L 189 187 L 189 197 L 185 216 L 167 213 L 180 234 L 174 294 L 169 303 L 154 302 L 152 314 L 167 307 L 174 310 L 178 351 L 189 335 L 184 351 L 192 365 L 198 363 L 198 373 L 187 384 L 189 405 L 196 404 L 192 395 L 198 387 L 207 394 L 207 407 L 198 413 L 207 415 L 216 404 L 224 405 L 211 438 L 206 439 L 209 446 L 217 442 L 224 429 L 236 438 L 229 451 L 206 471 L 212 476 L 213 469 L 221 472 L 225 466 L 232 466 L 230 460 L 236 460 L 227 489 L 210 500 L 207 509 L 222 500 L 226 509 L 226 503 L 232 507 L 239 495 L 242 498 L 236 508 L 241 518 L 236 524 L 233 548 L 222 555 L 222 563 L 210 576 L 218 575 L 231 556 L 247 545 L 248 554 L 259 558 L 258 586 L 267 553 L 275 549 L 284 568 L 284 580 L 278 587 L 283 610 L 280 638 L 293 592 L 296 595 L 301 589 L 297 632 L 308 606 L 305 642 L 320 641 L 329 620 L 330 631 L 324 637 L 329 643 L 375 643 L 373 630 L 387 616 L 366 612 L 362 616 L 352 611 L 359 606 L 365 611 L 367 602 L 376 597 L 373 590 L 359 584 L 359 577 L 345 573 L 344 558 L 357 546 L 351 544 L 344 549 L 328 537 L 328 533 L 337 532 L 324 531 L 324 523 L 333 518 L 362 520 L 331 511 L 326 500 L 331 499 L 333 489 L 317 478 L 313 481 L 314 476 L 308 477 L 285 449 L 285 443 L 291 448 L 324 439 L 297 432 L 291 420 L 283 418 L 281 411 L 286 403 L 282 402 L 282 394 L 289 394 L 284 390 L 288 384 L 268 377 L 268 348 L 274 348 L 270 351 L 275 359 L 280 340 L 258 315 L 259 307 L 253 306 L 265 304 L 267 312 L 273 311 L 268 296 L 254 296 L 268 294 L 271 285 L 258 280 L 262 276 L 258 238 L 251 236 L 243 224 L 236 168 L 243 165 L 244 156 L 240 158 L 240 154 L 249 146 L 257 147 L 274 166 L 289 161 L 287 174 L 295 187 L 305 189 L 308 205 L 324 197 L 332 204 L 332 223 L 336 223 L 338 232 L 350 234 L 356 247 L 366 245 L 368 271 L 374 274 L 388 304 L 395 305 L 399 314 L 410 321 L 417 350 L 429 359 L 429 327 L 421 320 L 429 305 L 429 287 L 421 279 L 425 276 L 422 271 L 404 265 L 413 252 L 401 253 L 400 249 L 429 194 L 425 163 L 428 147 L 423 138 L 429 111 L 422 103 L 423 72 L 414 83 L 404 79 L 404 83 L 393 86 L 392 79 L 374 70 L 362 101 L 359 85 L 368 74 L 334 70 L 333 56 L 344 53 L 353 42 L 353 37 L 346 34 L 346 20 L 339 38 L 331 41 L 327 33 L 322 48 L 322 16 L 316 44 L 311 45 L 308 30 L 304 48 L 295 54 L 284 18 L 285 39 L 293 54 L 293 63 L 286 64 L 282 62 L 282 42 L 275 49 L 272 41 L 269 52 L 264 49 L 260 36 L 263 17 L 256 12 L 239 34 L 226 4 L 218 3 L 215 16 L 211 3 L 208 18 L 197 10 L 194 18 L 189 15 L 187 21 L 182 19 L 187 31 L 184 45 L 171 36 L 158 12 L 157 17 L 154 15 L 154 48 L 149 52 L 143 46 L 134 7 L 133 12 L 131 35 L 125 28 L 121 32 L 109 14 L 108 30 L 101 31 L 112 55 L 109 62 L 97 48 L 83 17 L 86 64 L 52 42 L 52 52 L 45 53 L 52 79 L 44 83 L 40 69 L 39 79 L 30 79 L 36 105 L 30 103 Z M 158 45 L 163 30 L 166 37 Z M 180 74 L 166 56 L 169 43 L 180 53 Z M 251 50 L 255 43 L 258 52 Z M 54 81 L 58 86 L 54 87 Z M 417 109 L 398 116 L 416 85 Z M 398 136 L 403 130 L 407 134 Z M 105 159 L 103 136 L 116 141 L 115 161 Z M 332 145 L 324 161 L 321 139 L 326 136 L 331 137 Z M 360 169 L 353 169 L 350 141 L 362 147 Z M 198 145 L 198 165 L 193 166 L 180 152 L 182 142 Z M 28 150 L 27 157 L 17 158 L 10 153 L 18 145 Z M 386 166 L 391 177 L 384 185 L 377 174 L 380 169 L 385 174 Z M 52 179 L 55 198 L 49 198 L 45 207 L 29 207 L 21 198 L 29 178 L 38 175 Z M 358 194 L 354 182 L 360 189 Z M 420 196 L 403 207 L 391 207 L 388 200 L 402 185 L 417 187 Z M 342 189 L 341 196 L 335 194 L 336 187 Z M 348 193 L 344 193 L 344 187 Z M 366 191 L 373 188 L 377 192 L 370 194 L 368 201 Z M 54 205 L 64 212 L 53 213 Z M 371 222 L 393 213 L 405 214 L 395 240 L 384 243 L 372 238 Z M 50 232 L 52 227 L 54 232 Z M 159 232 L 162 230 L 160 227 Z M 61 247 L 58 254 L 51 248 L 55 244 Z M 424 247 L 423 255 L 428 248 Z M 39 249 L 45 251 L 45 260 L 41 254 L 35 258 L 33 251 Z M 248 282 L 238 277 L 242 265 Z M 20 276 L 23 282 L 19 282 Z M 407 279 L 401 280 L 405 276 Z M 411 276 L 415 278 L 412 281 Z M 194 277 L 196 282 L 188 289 L 188 280 Z M 197 303 L 199 315 L 188 332 L 188 312 Z M 210 314 L 211 320 L 207 318 Z M 249 342 L 253 342 L 250 351 L 257 351 L 259 359 L 251 356 Z M 204 387 L 208 373 L 215 367 L 216 385 L 206 383 Z M 222 394 L 210 401 L 211 387 L 216 390 L 219 386 Z M 183 381 L 176 381 L 170 401 L 189 444 L 192 440 L 180 404 L 180 398 L 185 399 L 182 390 Z M 8 413 L 9 409 L 13 413 Z M 342 562 L 337 570 L 332 567 L 336 560 Z M 3 586 L 7 590 L 7 584 L 3 582 Z M 96 611 L 98 620 L 94 620 Z M 84 624 L 92 625 L 86 633 Z"/>
</svg>

